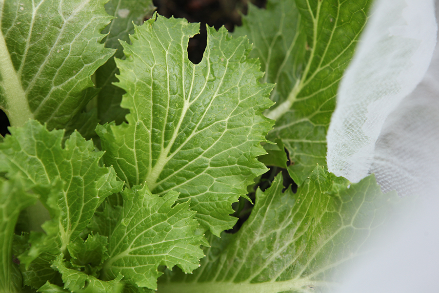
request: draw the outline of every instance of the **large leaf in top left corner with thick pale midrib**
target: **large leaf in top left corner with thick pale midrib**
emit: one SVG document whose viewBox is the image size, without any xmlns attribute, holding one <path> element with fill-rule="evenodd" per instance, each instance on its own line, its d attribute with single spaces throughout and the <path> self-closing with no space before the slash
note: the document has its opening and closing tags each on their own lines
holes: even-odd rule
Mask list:
<svg viewBox="0 0 439 293">
<path fill-rule="evenodd" d="M 62 128 L 88 103 L 90 76 L 114 53 L 100 44 L 105 2 L 1 1 L 0 108 L 12 126 Z"/>
</svg>

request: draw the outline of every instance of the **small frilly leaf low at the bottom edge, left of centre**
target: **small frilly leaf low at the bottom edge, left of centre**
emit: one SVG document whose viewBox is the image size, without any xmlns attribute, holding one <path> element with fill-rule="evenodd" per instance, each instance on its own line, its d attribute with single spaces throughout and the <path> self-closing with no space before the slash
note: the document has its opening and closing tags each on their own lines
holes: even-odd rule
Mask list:
<svg viewBox="0 0 439 293">
<path fill-rule="evenodd" d="M 102 281 L 90 276 L 84 272 L 73 270 L 67 267 L 63 260 L 61 253 L 54 261 L 52 267 L 59 271 L 62 275 L 64 288 L 72 293 L 120 293 L 123 288 L 123 283 L 120 280 L 123 278 L 119 274 L 114 280 Z"/>
</svg>

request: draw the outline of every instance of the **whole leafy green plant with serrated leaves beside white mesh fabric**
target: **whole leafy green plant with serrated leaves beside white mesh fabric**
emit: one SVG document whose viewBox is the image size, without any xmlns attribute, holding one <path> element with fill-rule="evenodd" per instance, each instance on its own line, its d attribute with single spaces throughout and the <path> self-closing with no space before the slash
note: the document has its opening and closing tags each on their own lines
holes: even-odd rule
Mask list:
<svg viewBox="0 0 439 293">
<path fill-rule="evenodd" d="M 325 169 L 370 2 L 250 6 L 194 64 L 148 0 L 1 1 L 0 291 L 331 289 L 397 198 Z"/>
</svg>

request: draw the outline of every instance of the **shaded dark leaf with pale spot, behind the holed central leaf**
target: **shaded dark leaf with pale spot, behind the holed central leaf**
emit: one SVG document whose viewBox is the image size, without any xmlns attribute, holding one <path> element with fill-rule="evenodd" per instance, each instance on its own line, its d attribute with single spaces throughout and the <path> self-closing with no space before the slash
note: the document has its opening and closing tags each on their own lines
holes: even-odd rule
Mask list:
<svg viewBox="0 0 439 293">
<path fill-rule="evenodd" d="M 119 40 L 130 43 L 129 35 L 134 33 L 134 24 L 141 25 L 145 17 L 150 18 L 155 7 L 152 0 L 110 0 L 105 4 L 105 10 L 114 19 L 103 30 L 108 33 L 105 38 L 105 47 L 117 49 L 115 57 L 124 59 L 122 45 Z M 96 71 L 96 85 L 101 88 L 98 95 L 98 112 L 101 123 L 115 121 L 120 124 L 125 121 L 127 109 L 120 107 L 123 89 L 113 85 L 119 74 L 114 59 L 111 58 Z"/>
</svg>

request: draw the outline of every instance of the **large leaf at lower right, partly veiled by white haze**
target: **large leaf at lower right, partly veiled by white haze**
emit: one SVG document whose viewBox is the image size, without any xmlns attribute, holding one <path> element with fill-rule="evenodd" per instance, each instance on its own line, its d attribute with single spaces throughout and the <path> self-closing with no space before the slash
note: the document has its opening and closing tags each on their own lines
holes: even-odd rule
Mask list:
<svg viewBox="0 0 439 293">
<path fill-rule="evenodd" d="M 283 188 L 279 174 L 265 192 L 258 190 L 241 229 L 226 241 L 214 239 L 199 270 L 160 283 L 159 293 L 334 289 L 399 200 L 395 192 L 382 194 L 373 175 L 349 186 L 319 166 L 296 194 Z"/>
</svg>

